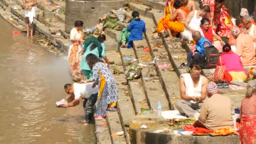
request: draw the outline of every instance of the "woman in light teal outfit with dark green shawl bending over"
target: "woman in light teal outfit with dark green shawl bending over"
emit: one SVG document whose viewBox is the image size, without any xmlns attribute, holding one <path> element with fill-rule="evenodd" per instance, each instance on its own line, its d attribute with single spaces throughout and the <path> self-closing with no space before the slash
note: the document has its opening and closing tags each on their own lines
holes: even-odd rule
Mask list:
<svg viewBox="0 0 256 144">
<path fill-rule="evenodd" d="M 101 34 L 97 37 L 97 39 L 88 38 L 85 41 L 84 54 L 83 54 L 83 57 L 82 57 L 82 60 L 80 63 L 80 69 L 82 69 L 83 75 L 86 77 L 86 79 L 90 79 L 93 75 L 93 72 L 91 71 L 89 65 L 87 64 L 87 61 L 85 60 L 85 58 L 88 54 L 93 53 L 98 58 L 103 58 L 107 64 L 110 63 L 110 61 L 107 59 L 107 56 L 105 53 L 105 45 L 104 45 L 105 40 L 106 40 L 106 36 Z"/>
</svg>

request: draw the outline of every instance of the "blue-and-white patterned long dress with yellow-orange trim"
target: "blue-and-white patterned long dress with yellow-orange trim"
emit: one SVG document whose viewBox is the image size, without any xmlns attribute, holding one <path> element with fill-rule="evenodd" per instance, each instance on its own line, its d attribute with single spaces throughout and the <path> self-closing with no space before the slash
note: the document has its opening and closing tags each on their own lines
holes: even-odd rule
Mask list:
<svg viewBox="0 0 256 144">
<path fill-rule="evenodd" d="M 105 117 L 107 110 L 115 111 L 118 99 L 118 89 L 114 76 L 103 62 L 97 62 L 92 68 L 92 80 L 99 85 L 99 95 L 96 102 L 96 117 Z"/>
</svg>

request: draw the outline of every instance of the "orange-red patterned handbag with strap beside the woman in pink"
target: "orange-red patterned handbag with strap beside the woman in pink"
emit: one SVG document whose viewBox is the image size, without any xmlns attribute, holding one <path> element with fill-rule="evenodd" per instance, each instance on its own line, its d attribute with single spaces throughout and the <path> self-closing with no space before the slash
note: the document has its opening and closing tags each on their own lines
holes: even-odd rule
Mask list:
<svg viewBox="0 0 256 144">
<path fill-rule="evenodd" d="M 222 82 L 224 81 L 224 77 L 225 77 L 225 71 L 226 71 L 226 67 L 222 65 L 221 62 L 221 56 L 219 56 L 220 58 L 220 65 L 216 66 L 216 70 L 215 72 L 213 72 L 213 75 L 211 76 L 210 80 L 218 83 L 218 82 Z"/>
</svg>

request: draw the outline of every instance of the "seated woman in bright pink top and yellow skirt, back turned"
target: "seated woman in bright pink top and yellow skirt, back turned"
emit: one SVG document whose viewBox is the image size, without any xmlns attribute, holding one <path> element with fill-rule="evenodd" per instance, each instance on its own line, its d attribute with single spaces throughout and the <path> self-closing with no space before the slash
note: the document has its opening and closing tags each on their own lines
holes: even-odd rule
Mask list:
<svg viewBox="0 0 256 144">
<path fill-rule="evenodd" d="M 218 65 L 226 67 L 228 73 L 224 73 L 225 81 L 233 85 L 246 86 L 244 83 L 247 80 L 247 72 L 243 68 L 243 63 L 240 57 L 231 51 L 229 44 L 223 46 L 223 53 L 219 56 Z M 218 83 L 219 88 L 228 85 L 227 82 Z"/>
</svg>

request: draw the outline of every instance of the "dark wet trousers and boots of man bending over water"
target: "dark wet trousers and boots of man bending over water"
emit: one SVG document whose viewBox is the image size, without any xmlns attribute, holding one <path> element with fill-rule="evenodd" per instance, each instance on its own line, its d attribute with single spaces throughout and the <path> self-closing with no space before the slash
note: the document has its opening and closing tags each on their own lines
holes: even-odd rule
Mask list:
<svg viewBox="0 0 256 144">
<path fill-rule="evenodd" d="M 97 101 L 98 93 L 92 94 L 89 99 L 83 101 L 83 108 L 85 109 L 85 120 L 87 123 L 93 123 L 93 106 Z"/>
</svg>

